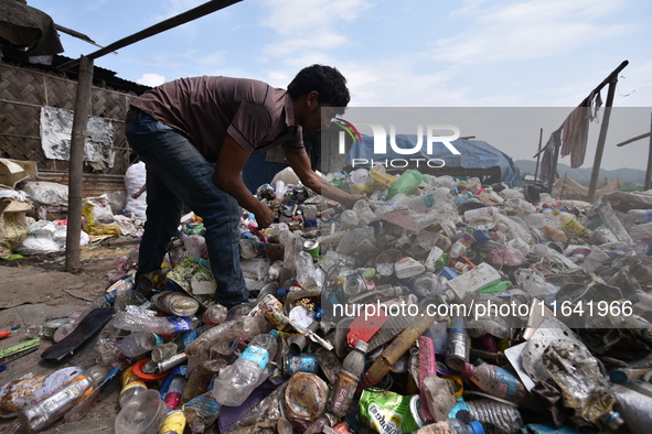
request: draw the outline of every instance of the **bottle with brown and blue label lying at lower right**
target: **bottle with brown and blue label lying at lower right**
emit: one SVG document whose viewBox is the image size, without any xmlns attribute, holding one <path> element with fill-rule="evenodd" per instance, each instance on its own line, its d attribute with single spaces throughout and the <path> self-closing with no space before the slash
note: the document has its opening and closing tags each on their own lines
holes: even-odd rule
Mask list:
<svg viewBox="0 0 652 434">
<path fill-rule="evenodd" d="M 462 376 L 470 379 L 483 392 L 507 401 L 523 403 L 527 389 L 516 377 L 495 365 L 482 362 L 479 366 L 464 364 Z"/>
</svg>

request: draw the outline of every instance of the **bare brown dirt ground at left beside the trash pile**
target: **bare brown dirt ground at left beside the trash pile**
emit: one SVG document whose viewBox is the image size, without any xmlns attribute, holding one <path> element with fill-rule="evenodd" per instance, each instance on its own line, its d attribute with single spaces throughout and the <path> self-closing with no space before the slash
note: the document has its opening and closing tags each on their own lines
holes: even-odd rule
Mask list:
<svg viewBox="0 0 652 434">
<path fill-rule="evenodd" d="M 86 248 L 82 251 L 82 269 L 77 273 L 64 271 L 65 252 L 32 256 L 12 261 L 0 261 L 0 330 L 21 327 L 0 340 L 0 350 L 25 341 L 21 329 L 29 324 L 42 324 L 47 319 L 65 317 L 75 307 L 96 300 L 109 286 L 106 273 L 115 269 L 119 259 L 129 254 L 137 240 L 121 240 Z M 24 376 L 38 376 L 75 365 L 78 355 L 62 364 L 47 362 L 41 354 L 53 343 L 42 339 L 39 350 L 9 361 L 0 372 L 0 384 Z M 118 408 L 119 384 L 114 383 L 103 393 L 93 408 L 94 417 L 115 417 Z M 4 432 L 13 419 L 0 419 L 0 432 Z"/>
</svg>

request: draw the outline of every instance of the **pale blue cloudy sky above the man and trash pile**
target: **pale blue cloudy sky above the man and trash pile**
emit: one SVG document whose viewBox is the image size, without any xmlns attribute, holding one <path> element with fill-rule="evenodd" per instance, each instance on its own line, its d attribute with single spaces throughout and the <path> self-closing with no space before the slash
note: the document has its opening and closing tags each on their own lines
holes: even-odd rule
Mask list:
<svg viewBox="0 0 652 434">
<path fill-rule="evenodd" d="M 100 45 L 203 2 L 28 0 Z M 97 50 L 61 37 L 70 57 Z M 632 126 L 621 126 L 626 132 L 608 135 L 602 166 L 645 169 L 648 142 L 613 144 L 650 130 L 650 41 L 652 2 L 642 0 L 244 0 L 96 65 L 152 86 L 228 75 L 286 87 L 301 67 L 321 63 L 348 77 L 351 106 L 567 107 L 569 112 L 628 59 L 614 107 L 641 109 L 628 117 L 635 118 Z M 563 121 L 542 120 L 544 142 Z M 532 159 L 538 128 L 532 129 L 521 129 L 519 140 L 491 144 L 514 159 Z M 598 130 L 592 123 L 592 135 Z M 592 165 L 594 153 L 589 142 L 585 166 Z"/>
</svg>

